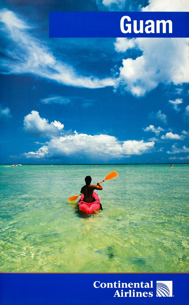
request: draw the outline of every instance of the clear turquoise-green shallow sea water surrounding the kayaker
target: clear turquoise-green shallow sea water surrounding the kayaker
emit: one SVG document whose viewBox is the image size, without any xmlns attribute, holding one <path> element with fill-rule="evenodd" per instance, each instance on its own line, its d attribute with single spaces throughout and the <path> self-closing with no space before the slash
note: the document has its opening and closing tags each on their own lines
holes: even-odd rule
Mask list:
<svg viewBox="0 0 189 305">
<path fill-rule="evenodd" d="M 84 177 L 103 211 L 77 211 Z M 189 166 L 3 167 L 0 271 L 188 272 Z"/>
</svg>

